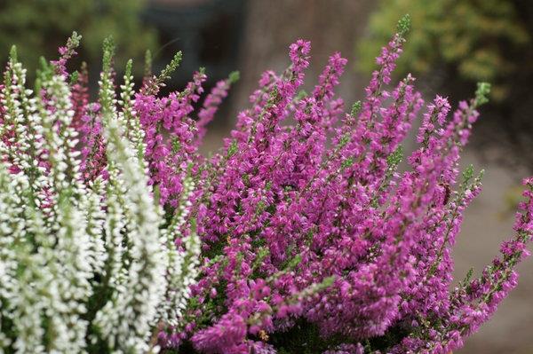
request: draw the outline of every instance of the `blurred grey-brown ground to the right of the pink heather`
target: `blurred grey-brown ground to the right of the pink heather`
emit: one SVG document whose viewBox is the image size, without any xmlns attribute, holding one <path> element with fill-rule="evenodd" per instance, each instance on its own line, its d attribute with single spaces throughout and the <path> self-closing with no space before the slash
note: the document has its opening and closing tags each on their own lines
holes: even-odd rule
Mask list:
<svg viewBox="0 0 533 354">
<path fill-rule="evenodd" d="M 521 177 L 528 175 L 525 170 L 511 170 L 497 162 L 481 161 L 472 146 L 466 149 L 462 159 L 464 166 L 470 163 L 476 170 L 485 169 L 485 176 L 481 194 L 466 210 L 454 248 L 457 279 L 462 279 L 471 267 L 474 274 L 479 275 L 497 255 L 501 241 L 512 235 L 515 206 L 508 201 L 509 196 L 516 193 L 513 191 L 517 190 Z M 473 334 L 465 348 L 457 353 L 533 353 L 533 258 L 525 259 L 518 270 L 518 287 L 499 306 L 493 319 Z"/>
</svg>

